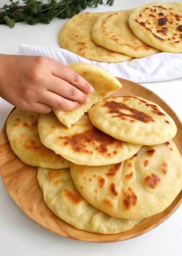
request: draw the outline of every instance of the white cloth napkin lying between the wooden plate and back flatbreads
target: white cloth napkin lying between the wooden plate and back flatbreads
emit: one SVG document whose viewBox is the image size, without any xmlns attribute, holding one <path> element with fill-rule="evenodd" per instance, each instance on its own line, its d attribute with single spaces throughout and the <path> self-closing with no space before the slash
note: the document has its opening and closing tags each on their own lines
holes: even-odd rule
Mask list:
<svg viewBox="0 0 182 256">
<path fill-rule="evenodd" d="M 101 66 L 114 76 L 135 82 L 157 82 L 182 78 L 182 53 L 174 54 L 163 52 L 122 63 L 104 63 L 87 60 L 62 48 L 22 44 L 19 47 L 19 54 L 46 56 L 65 65 L 86 62 Z"/>
</svg>

